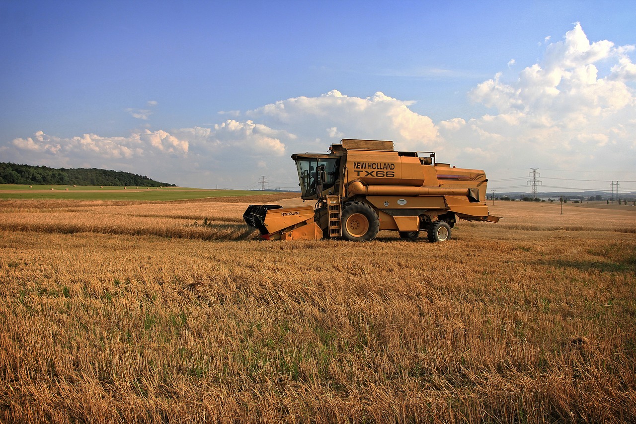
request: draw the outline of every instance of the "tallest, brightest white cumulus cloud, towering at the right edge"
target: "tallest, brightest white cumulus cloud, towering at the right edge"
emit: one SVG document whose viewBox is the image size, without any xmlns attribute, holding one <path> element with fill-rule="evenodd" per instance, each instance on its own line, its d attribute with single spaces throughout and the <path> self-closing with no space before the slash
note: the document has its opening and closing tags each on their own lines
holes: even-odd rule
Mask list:
<svg viewBox="0 0 636 424">
<path fill-rule="evenodd" d="M 449 141 L 461 136 L 476 145 L 487 143 L 490 167 L 507 162 L 585 169 L 605 162 L 628 169 L 636 157 L 628 135 L 636 129 L 636 97 L 629 85 L 636 75 L 628 57 L 632 51 L 633 46 L 617 47 L 607 40 L 590 42 L 576 24 L 563 40 L 546 46 L 543 61 L 525 67 L 516 80 L 504 82 L 497 73 L 471 90 L 474 102 L 495 113 L 456 134 L 443 127 L 443 135 Z M 600 62 L 613 66 L 602 74 Z"/>
</svg>

